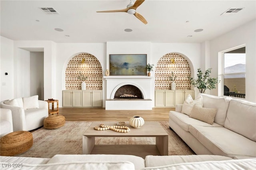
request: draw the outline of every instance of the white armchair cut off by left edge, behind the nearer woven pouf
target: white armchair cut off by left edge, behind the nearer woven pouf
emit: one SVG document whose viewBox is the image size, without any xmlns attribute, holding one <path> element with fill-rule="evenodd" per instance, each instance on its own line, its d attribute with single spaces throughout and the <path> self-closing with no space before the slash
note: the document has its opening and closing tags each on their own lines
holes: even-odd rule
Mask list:
<svg viewBox="0 0 256 170">
<path fill-rule="evenodd" d="M 0 109 L 0 137 L 13 132 L 12 111 L 10 109 Z"/>
</svg>

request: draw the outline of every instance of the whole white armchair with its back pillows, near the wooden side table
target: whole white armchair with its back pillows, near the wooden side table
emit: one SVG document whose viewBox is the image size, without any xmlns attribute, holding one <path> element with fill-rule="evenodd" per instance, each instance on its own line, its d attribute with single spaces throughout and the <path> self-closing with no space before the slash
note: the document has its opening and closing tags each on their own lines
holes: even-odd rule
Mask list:
<svg viewBox="0 0 256 170">
<path fill-rule="evenodd" d="M 38 100 L 38 95 L 1 101 L 0 108 L 12 111 L 13 131 L 36 129 L 48 117 L 48 103 Z"/>
</svg>

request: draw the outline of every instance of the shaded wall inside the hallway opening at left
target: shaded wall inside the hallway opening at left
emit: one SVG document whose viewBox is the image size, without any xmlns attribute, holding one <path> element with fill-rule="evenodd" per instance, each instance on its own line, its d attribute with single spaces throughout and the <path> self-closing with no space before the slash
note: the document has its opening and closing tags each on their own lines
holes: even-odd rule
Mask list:
<svg viewBox="0 0 256 170">
<path fill-rule="evenodd" d="M 44 100 L 44 52 L 30 52 L 30 95 Z"/>
</svg>

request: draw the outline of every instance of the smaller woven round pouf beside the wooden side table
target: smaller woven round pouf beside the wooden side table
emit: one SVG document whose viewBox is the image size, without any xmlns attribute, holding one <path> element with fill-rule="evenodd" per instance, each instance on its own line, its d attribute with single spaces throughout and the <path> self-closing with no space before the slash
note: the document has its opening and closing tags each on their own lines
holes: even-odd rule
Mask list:
<svg viewBox="0 0 256 170">
<path fill-rule="evenodd" d="M 44 128 L 56 129 L 64 126 L 65 117 L 62 115 L 50 115 L 44 119 Z"/>
</svg>

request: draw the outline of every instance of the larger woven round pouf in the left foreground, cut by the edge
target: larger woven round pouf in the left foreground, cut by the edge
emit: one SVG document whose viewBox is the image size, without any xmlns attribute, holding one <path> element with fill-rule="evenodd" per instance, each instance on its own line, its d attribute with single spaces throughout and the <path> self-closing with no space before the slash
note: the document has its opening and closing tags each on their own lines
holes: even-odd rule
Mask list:
<svg viewBox="0 0 256 170">
<path fill-rule="evenodd" d="M 0 155 L 16 156 L 29 150 L 33 145 L 33 135 L 28 131 L 16 131 L 1 138 Z"/>
</svg>

